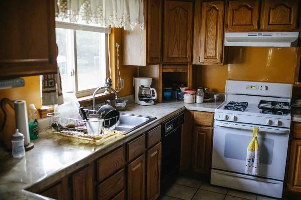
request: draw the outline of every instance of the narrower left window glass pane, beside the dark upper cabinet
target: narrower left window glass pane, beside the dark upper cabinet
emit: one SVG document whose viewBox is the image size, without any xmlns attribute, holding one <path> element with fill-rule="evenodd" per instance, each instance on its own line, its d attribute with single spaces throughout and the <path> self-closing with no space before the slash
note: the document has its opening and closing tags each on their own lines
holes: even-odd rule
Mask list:
<svg viewBox="0 0 301 200">
<path fill-rule="evenodd" d="M 72 91 L 71 70 L 73 69 L 72 66 L 74 65 L 72 62 L 72 56 L 70 58 L 70 55 L 74 54 L 74 50 L 72 52 L 72 49 L 74 49 L 73 47 L 74 42 L 70 44 L 70 41 L 72 41 L 73 38 L 73 31 L 70 29 L 55 28 L 55 37 L 56 37 L 56 44 L 59 49 L 59 54 L 56 58 L 56 62 L 61 73 L 62 90 L 63 93 L 71 92 Z"/>
</svg>

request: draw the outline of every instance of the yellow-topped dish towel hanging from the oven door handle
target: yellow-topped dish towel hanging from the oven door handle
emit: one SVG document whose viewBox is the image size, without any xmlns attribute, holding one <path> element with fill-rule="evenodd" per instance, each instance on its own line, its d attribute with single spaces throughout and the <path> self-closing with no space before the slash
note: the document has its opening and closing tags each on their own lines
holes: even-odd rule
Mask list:
<svg viewBox="0 0 301 200">
<path fill-rule="evenodd" d="M 258 127 L 253 127 L 253 139 L 247 149 L 246 174 L 256 176 L 259 168 L 259 145 L 257 141 Z"/>
</svg>

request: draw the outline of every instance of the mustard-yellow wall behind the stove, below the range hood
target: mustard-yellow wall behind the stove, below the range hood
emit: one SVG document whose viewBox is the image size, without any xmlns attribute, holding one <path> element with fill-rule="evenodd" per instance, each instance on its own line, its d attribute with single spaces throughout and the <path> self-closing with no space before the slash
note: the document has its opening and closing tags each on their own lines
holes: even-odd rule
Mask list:
<svg viewBox="0 0 301 200">
<path fill-rule="evenodd" d="M 225 81 L 293 83 L 295 47 L 229 47 L 228 65 L 199 65 L 198 87 L 224 92 Z"/>
</svg>

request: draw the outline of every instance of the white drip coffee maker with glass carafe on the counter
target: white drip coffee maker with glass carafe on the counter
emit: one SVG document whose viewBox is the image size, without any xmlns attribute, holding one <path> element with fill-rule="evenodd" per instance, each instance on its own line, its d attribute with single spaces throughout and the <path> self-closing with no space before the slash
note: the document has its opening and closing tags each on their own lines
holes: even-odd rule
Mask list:
<svg viewBox="0 0 301 200">
<path fill-rule="evenodd" d="M 135 83 L 135 103 L 140 105 L 153 105 L 153 99 L 157 98 L 157 91 L 150 88 L 151 79 L 149 77 L 136 77 Z M 154 95 L 154 96 L 153 96 Z"/>
</svg>

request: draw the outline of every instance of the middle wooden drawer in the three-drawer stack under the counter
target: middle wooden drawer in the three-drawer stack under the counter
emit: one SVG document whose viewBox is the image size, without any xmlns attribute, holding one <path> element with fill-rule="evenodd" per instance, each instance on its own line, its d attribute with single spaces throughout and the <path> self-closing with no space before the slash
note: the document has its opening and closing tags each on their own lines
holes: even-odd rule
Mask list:
<svg viewBox="0 0 301 200">
<path fill-rule="evenodd" d="M 98 185 L 98 199 L 111 199 L 124 188 L 124 169 Z"/>
</svg>

